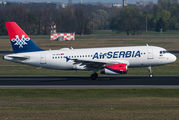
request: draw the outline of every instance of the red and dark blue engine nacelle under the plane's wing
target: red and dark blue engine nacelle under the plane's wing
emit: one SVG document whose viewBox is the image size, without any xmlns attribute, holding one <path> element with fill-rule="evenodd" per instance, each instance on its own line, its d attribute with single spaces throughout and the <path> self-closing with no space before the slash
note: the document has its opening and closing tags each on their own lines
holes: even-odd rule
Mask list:
<svg viewBox="0 0 179 120">
<path fill-rule="evenodd" d="M 117 74 L 126 74 L 128 71 L 128 67 L 126 64 L 113 64 L 105 66 L 101 69 L 101 74 L 108 75 L 117 75 Z"/>
</svg>

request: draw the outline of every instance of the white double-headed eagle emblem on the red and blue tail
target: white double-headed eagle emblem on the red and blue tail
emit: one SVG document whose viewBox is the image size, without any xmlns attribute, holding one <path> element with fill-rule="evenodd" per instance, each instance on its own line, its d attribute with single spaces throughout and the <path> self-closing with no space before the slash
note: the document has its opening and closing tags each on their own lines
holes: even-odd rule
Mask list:
<svg viewBox="0 0 179 120">
<path fill-rule="evenodd" d="M 25 35 L 22 35 L 22 39 L 19 39 L 19 35 L 16 35 L 16 38 L 11 39 L 12 42 L 16 42 L 14 45 L 19 45 L 19 48 L 23 48 L 23 45 L 26 45 L 30 38 L 24 38 Z"/>
</svg>

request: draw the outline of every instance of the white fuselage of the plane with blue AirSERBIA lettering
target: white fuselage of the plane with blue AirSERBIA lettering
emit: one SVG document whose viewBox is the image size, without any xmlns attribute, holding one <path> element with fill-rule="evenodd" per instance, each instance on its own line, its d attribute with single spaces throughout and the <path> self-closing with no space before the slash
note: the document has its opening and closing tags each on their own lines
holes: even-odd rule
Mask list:
<svg viewBox="0 0 179 120">
<path fill-rule="evenodd" d="M 162 53 L 161 53 L 162 51 Z M 157 66 L 172 63 L 176 57 L 166 50 L 155 46 L 109 47 L 89 49 L 60 49 L 39 52 L 16 53 L 4 56 L 5 60 L 18 63 L 61 70 L 92 70 L 73 59 L 126 63 L 128 67 Z M 26 58 L 26 59 L 23 59 Z M 67 60 L 70 59 L 70 60 Z"/>
</svg>

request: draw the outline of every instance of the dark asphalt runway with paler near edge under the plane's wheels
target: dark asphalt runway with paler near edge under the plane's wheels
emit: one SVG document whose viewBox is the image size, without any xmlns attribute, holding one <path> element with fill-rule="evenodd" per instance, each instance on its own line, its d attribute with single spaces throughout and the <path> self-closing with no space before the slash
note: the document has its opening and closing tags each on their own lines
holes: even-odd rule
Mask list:
<svg viewBox="0 0 179 120">
<path fill-rule="evenodd" d="M 179 76 L 0 76 L 0 88 L 124 89 L 179 88 Z"/>
</svg>

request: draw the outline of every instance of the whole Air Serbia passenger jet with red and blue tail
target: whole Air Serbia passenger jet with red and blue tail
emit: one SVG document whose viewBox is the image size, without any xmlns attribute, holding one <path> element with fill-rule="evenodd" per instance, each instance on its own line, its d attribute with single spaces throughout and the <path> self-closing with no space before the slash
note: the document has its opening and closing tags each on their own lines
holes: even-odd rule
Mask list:
<svg viewBox="0 0 179 120">
<path fill-rule="evenodd" d="M 43 50 L 15 22 L 5 24 L 14 54 L 5 55 L 4 60 L 50 69 L 92 70 L 92 80 L 98 77 L 99 70 L 101 74 L 118 75 L 126 74 L 129 67 L 148 67 L 149 77 L 153 77 L 151 66 L 176 61 L 176 56 L 166 49 L 148 45 Z"/>
</svg>

